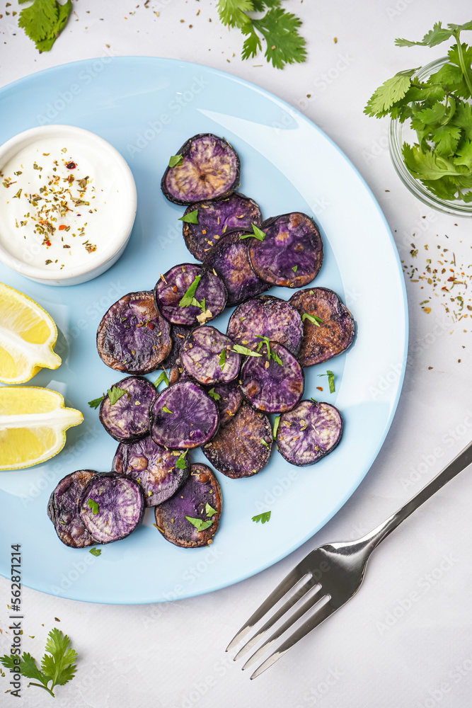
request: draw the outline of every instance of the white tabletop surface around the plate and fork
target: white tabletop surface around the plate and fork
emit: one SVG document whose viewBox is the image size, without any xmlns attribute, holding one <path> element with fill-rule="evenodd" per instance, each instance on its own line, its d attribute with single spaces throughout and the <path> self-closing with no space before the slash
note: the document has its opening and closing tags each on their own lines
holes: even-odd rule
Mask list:
<svg viewBox="0 0 472 708">
<path fill-rule="evenodd" d="M 442 47 L 399 49 L 393 40 L 398 36 L 419 39 L 438 20 L 468 21 L 468 1 L 287 2 L 304 21 L 309 57 L 306 64 L 282 72 L 259 57 L 251 62 L 239 59 L 241 36 L 221 27 L 214 1 L 150 0 L 144 8 L 142 0 L 74 0 L 67 28 L 52 52 L 43 55 L 16 28 L 16 18 L 6 15 L 18 10 L 16 0 L 11 2 L 8 8 L 5 0 L 0 3 L 2 86 L 40 69 L 105 53 L 152 55 L 209 64 L 301 108 L 366 178 L 405 263 L 415 263 L 422 273 L 428 256 L 434 264 L 455 254 L 456 270 L 464 265 L 469 287 L 456 286 L 452 295 L 464 296 L 464 312 L 468 312 L 471 221 L 441 215 L 415 200 L 391 166 L 387 120 L 376 121 L 362 113 L 372 91 L 389 76 L 444 54 Z M 418 249 L 413 260 L 411 243 Z M 449 248 L 447 255 L 444 247 Z M 436 290 L 440 294 L 441 285 Z M 377 525 L 470 440 L 471 320 L 457 321 L 452 307 L 446 312 L 442 303 L 449 295 L 432 295 L 432 311 L 424 312 L 420 302 L 431 295 L 427 282 L 407 278 L 407 290 L 410 351 L 388 438 L 350 501 L 304 547 L 236 586 L 163 605 L 87 605 L 24 588 L 24 649 L 40 656 L 47 631 L 55 624 L 71 635 L 79 652 L 76 678 L 57 689 L 57 704 L 64 708 L 435 708 L 439 704 L 465 708 L 470 704 L 470 470 L 386 539 L 369 564 L 359 595 L 276 667 L 251 682 L 224 653 L 238 627 L 309 549 L 354 539 Z M 8 598 L 9 583 L 0 578 L 1 653 L 8 650 L 11 636 L 6 634 Z M 26 683 L 20 705 L 51 704 L 50 696 L 27 688 Z M 11 701 L 4 694 L 7 689 L 8 680 L 0 678 L 2 706 Z"/>
</svg>

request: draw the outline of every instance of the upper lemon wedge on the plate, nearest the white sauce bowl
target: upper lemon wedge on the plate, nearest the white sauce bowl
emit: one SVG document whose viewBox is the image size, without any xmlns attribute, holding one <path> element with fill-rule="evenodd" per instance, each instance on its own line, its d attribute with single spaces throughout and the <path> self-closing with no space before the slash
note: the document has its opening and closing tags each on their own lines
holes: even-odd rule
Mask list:
<svg viewBox="0 0 472 708">
<path fill-rule="evenodd" d="M 0 282 L 0 381 L 23 384 L 42 367 L 57 369 L 56 340 L 57 327 L 45 309 Z"/>
</svg>

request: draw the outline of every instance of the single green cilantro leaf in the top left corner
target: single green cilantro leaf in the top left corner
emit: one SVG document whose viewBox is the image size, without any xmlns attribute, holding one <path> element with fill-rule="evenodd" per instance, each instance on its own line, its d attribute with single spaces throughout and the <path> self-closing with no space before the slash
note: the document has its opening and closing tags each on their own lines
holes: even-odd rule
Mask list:
<svg viewBox="0 0 472 708">
<path fill-rule="evenodd" d="M 18 0 L 18 4 L 26 1 Z M 21 11 L 18 26 L 35 42 L 40 53 L 49 52 L 64 29 L 71 11 L 72 0 L 67 0 L 64 5 L 57 0 L 35 0 Z"/>
</svg>

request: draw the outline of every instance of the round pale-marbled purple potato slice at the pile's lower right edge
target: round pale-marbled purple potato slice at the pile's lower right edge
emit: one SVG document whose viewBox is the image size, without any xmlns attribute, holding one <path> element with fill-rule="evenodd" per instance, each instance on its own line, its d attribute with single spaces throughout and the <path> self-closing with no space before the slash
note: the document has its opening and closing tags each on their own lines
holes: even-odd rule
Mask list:
<svg viewBox="0 0 472 708">
<path fill-rule="evenodd" d="M 277 450 L 291 464 L 313 464 L 334 450 L 343 435 L 343 418 L 328 403 L 300 401 L 280 416 Z"/>
</svg>

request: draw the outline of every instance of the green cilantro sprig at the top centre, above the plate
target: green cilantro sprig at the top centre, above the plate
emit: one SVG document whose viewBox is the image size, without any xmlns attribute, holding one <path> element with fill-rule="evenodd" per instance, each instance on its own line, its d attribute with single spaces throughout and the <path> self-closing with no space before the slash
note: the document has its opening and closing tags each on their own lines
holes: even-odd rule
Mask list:
<svg viewBox="0 0 472 708">
<path fill-rule="evenodd" d="M 299 35 L 301 20 L 282 8 L 282 0 L 219 0 L 219 18 L 224 25 L 236 27 L 245 35 L 243 59 L 250 59 L 263 48 L 265 58 L 276 69 L 285 64 L 304 62 L 306 42 Z M 265 12 L 255 19 L 248 13 Z"/>
</svg>

